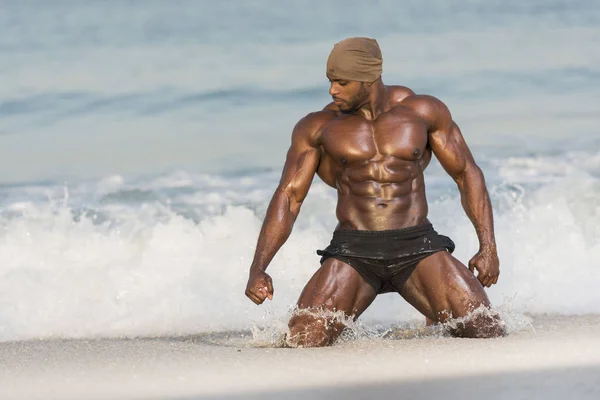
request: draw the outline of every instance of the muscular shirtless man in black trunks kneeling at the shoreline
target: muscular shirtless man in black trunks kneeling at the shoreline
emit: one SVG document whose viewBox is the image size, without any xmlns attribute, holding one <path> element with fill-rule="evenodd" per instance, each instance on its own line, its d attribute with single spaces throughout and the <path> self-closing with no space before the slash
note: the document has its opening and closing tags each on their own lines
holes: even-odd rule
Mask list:
<svg viewBox="0 0 600 400">
<path fill-rule="evenodd" d="M 387 292 L 400 293 L 432 322 L 470 316 L 453 325 L 455 336 L 503 335 L 484 291 L 498 281 L 499 261 L 483 174 L 444 103 L 384 85 L 381 72 L 376 40 L 348 38 L 333 47 L 326 72 L 333 102 L 294 127 L 246 295 L 256 304 L 272 299 L 265 270 L 289 237 L 317 173 L 337 190 L 339 223 L 329 246 L 317 252 L 321 267 L 300 295 L 288 345 L 333 343 L 343 325 L 322 311 L 356 319 Z M 468 268 L 427 219 L 423 171 L 432 153 L 456 181 L 479 239 Z M 472 313 L 481 309 L 489 312 Z M 321 314 L 303 312 L 311 310 Z"/>
</svg>

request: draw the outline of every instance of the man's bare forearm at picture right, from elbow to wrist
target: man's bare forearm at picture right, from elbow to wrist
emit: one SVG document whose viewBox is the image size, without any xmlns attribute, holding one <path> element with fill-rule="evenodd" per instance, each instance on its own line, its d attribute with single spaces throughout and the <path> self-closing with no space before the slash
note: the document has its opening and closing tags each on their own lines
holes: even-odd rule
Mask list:
<svg viewBox="0 0 600 400">
<path fill-rule="evenodd" d="M 457 181 L 462 206 L 473 223 L 480 248 L 496 248 L 492 203 L 485 186 L 483 172 L 476 165 L 466 168 Z"/>
</svg>

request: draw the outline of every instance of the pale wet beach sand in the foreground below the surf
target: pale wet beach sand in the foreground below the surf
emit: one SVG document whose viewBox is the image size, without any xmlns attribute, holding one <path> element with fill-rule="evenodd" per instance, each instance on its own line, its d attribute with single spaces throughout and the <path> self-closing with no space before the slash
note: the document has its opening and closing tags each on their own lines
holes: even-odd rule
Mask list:
<svg viewBox="0 0 600 400">
<path fill-rule="evenodd" d="M 498 339 L 260 348 L 237 333 L 0 343 L 1 399 L 599 399 L 600 316 Z"/>
</svg>

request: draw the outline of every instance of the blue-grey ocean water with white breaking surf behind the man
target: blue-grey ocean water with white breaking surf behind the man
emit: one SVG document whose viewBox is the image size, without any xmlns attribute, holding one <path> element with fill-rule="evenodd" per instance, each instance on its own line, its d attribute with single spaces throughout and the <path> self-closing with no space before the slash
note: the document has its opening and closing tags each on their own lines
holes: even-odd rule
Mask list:
<svg viewBox="0 0 600 400">
<path fill-rule="evenodd" d="M 495 211 L 495 306 L 600 313 L 600 3 L 0 1 L 0 340 L 187 335 L 281 320 L 318 268 L 315 179 L 244 296 L 293 124 L 329 101 L 331 46 L 377 38 L 384 82 L 442 99 Z M 454 182 L 430 219 L 478 243 Z M 518 318 L 517 318 L 518 319 Z M 380 296 L 362 323 L 422 317 Z"/>
</svg>

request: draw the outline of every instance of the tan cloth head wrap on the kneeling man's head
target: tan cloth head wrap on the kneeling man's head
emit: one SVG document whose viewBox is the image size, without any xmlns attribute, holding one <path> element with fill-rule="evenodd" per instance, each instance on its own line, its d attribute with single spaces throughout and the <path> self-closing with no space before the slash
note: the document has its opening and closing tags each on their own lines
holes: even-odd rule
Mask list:
<svg viewBox="0 0 600 400">
<path fill-rule="evenodd" d="M 375 39 L 354 37 L 333 46 L 327 59 L 327 76 L 373 82 L 381 76 L 383 58 Z"/>
</svg>

